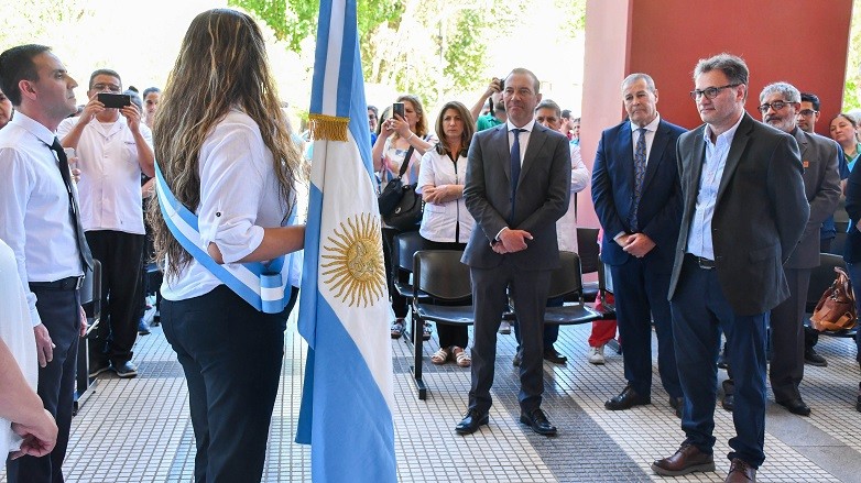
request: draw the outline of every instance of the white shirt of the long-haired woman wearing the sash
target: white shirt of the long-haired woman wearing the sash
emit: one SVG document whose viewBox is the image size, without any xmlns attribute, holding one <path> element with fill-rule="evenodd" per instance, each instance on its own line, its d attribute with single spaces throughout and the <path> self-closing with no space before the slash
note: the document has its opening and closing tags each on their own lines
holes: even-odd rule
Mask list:
<svg viewBox="0 0 861 483">
<path fill-rule="evenodd" d="M 228 271 L 235 272 L 235 263 L 260 246 L 264 227 L 287 224 L 287 206 L 272 165 L 272 152 L 263 144 L 257 123 L 236 109 L 212 128 L 200 146 L 200 204 L 195 210 L 200 248 L 206 251 L 215 242 Z M 287 257 L 282 273 L 295 267 L 293 259 Z M 297 283 L 297 278 L 288 279 L 291 285 Z M 192 259 L 178 277 L 164 277 L 162 296 L 185 300 L 219 285 L 218 277 Z"/>
</svg>

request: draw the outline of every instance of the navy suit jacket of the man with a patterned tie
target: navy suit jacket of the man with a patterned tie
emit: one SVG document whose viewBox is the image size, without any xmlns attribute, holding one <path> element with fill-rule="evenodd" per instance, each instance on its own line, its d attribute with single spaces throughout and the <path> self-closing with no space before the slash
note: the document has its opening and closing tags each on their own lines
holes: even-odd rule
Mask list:
<svg viewBox="0 0 861 483">
<path fill-rule="evenodd" d="M 674 250 L 682 222 L 676 140 L 684 132 L 683 128 L 663 119 L 658 123 L 636 212 L 639 231 L 655 242 L 655 248 L 643 260 L 649 270 L 656 273 L 669 273 L 673 270 Z M 621 232 L 633 232 L 628 221 L 633 209 L 633 194 L 634 147 L 631 122 L 625 120 L 601 133 L 592 167 L 592 202 L 604 231 L 601 260 L 610 265 L 621 265 L 631 257 L 613 241 L 613 237 Z"/>
</svg>

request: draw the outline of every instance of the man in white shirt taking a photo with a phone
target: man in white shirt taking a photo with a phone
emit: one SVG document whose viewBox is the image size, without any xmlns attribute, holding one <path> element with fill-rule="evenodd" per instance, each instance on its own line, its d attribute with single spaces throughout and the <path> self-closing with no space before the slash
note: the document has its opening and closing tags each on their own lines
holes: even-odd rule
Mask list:
<svg viewBox="0 0 861 483">
<path fill-rule="evenodd" d="M 122 92 L 120 75 L 98 69 L 89 80 L 89 102 L 78 118 L 63 121 L 57 136 L 74 147 L 81 172 L 80 215 L 92 255 L 101 262 L 102 322 L 90 349 L 90 376 L 111 369 L 134 377 L 131 362 L 138 337 L 141 257 L 145 231 L 141 173 L 154 175 L 152 133 L 132 105 L 106 108 L 98 95 Z"/>
</svg>

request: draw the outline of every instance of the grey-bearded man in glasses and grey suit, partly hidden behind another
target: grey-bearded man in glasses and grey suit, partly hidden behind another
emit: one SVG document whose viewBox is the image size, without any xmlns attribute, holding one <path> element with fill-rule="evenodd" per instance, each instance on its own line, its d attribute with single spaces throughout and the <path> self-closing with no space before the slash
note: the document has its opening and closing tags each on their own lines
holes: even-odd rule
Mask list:
<svg viewBox="0 0 861 483">
<path fill-rule="evenodd" d="M 789 298 L 771 314 L 772 360 L 770 378 L 774 400 L 793 414 L 807 416 L 810 408 L 802 399 L 798 385 L 804 377 L 804 314 L 810 272 L 819 266 L 819 227 L 837 209 L 840 199 L 838 162 L 840 149 L 827 138 L 805 132 L 797 125 L 802 94 L 786 83 L 776 83 L 760 94 L 762 120 L 787 132 L 798 142 L 804 165 L 804 190 L 810 204 L 810 218 L 804 235 L 783 265 L 789 284 Z"/>
</svg>

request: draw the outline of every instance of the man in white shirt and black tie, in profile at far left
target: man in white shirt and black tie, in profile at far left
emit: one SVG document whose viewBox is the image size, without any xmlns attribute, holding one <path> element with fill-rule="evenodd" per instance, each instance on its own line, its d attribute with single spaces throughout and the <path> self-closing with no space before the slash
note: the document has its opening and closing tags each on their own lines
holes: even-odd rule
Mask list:
<svg viewBox="0 0 861 483">
<path fill-rule="evenodd" d="M 26 295 L 37 393 L 59 429 L 50 454 L 7 463 L 10 483 L 63 481 L 78 337 L 86 330 L 78 287 L 92 262 L 66 155 L 54 136 L 75 112 L 75 87 L 48 47 L 21 45 L 0 54 L 0 88 L 17 109 L 0 131 L 0 239 L 14 252 Z"/>
</svg>

